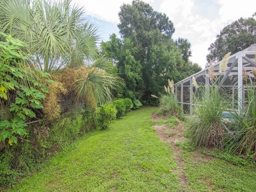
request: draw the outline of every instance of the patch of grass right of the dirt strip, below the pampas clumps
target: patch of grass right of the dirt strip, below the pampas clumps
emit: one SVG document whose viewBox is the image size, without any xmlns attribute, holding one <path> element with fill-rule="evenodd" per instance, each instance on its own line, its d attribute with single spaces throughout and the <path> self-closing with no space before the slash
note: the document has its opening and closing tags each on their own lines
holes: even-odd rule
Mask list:
<svg viewBox="0 0 256 192">
<path fill-rule="evenodd" d="M 204 158 L 193 152 L 182 152 L 188 191 L 254 192 L 256 170 L 250 166 L 235 166 L 218 158 Z"/>
</svg>

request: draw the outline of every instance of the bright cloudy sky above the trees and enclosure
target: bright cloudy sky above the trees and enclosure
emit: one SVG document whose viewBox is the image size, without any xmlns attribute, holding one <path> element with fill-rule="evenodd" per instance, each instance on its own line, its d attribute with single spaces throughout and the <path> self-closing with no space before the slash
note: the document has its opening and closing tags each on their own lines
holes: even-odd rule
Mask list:
<svg viewBox="0 0 256 192">
<path fill-rule="evenodd" d="M 174 24 L 173 38 L 186 38 L 191 43 L 192 62 L 202 68 L 206 64 L 208 47 L 224 26 L 239 18 L 251 17 L 256 12 L 256 0 L 144 0 L 158 12 L 165 13 Z M 132 0 L 73 0 L 83 6 L 85 16 L 98 27 L 104 42 L 109 35 L 119 37 L 118 12 L 122 4 Z"/>
</svg>

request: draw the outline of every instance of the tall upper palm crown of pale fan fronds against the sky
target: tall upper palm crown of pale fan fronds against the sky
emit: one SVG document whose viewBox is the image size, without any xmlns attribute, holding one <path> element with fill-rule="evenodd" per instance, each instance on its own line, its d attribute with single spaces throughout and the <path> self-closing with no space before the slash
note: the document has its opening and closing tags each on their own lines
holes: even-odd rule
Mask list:
<svg viewBox="0 0 256 192">
<path fill-rule="evenodd" d="M 26 42 L 36 67 L 50 72 L 97 55 L 97 29 L 83 13 L 71 0 L 2 0 L 0 30 Z"/>
</svg>

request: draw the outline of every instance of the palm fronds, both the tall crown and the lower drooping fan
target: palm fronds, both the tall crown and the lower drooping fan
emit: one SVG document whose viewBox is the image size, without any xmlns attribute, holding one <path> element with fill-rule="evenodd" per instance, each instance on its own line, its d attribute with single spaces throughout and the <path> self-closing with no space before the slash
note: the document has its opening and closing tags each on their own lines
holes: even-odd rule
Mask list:
<svg viewBox="0 0 256 192">
<path fill-rule="evenodd" d="M 90 66 L 85 70 L 88 74 L 73 81 L 70 92 L 76 92 L 75 99 L 81 102 L 93 97 L 102 104 L 111 100 L 120 78 L 106 68 L 108 60 L 99 56 L 97 28 L 83 13 L 71 0 L 1 0 L 0 31 L 28 44 L 24 51 L 31 54 L 35 67 L 46 72 Z"/>
</svg>

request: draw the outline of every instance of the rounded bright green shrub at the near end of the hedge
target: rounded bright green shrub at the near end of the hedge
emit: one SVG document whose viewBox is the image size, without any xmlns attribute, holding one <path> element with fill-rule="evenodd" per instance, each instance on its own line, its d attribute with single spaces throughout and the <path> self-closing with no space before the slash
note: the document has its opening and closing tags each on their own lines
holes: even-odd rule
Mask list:
<svg viewBox="0 0 256 192">
<path fill-rule="evenodd" d="M 117 110 L 114 104 L 104 104 L 98 108 L 96 118 L 97 126 L 101 129 L 106 129 L 111 120 L 116 118 Z"/>
</svg>

